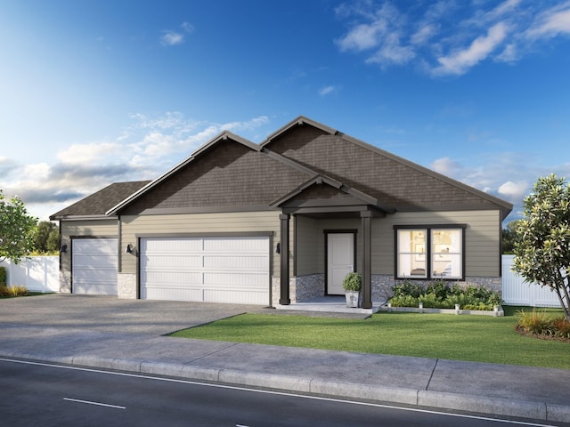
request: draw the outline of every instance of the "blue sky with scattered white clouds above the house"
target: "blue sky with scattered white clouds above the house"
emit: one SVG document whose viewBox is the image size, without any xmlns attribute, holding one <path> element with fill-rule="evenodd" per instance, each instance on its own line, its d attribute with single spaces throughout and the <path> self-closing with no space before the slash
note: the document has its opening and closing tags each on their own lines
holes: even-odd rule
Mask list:
<svg viewBox="0 0 570 427">
<path fill-rule="evenodd" d="M 570 1 L 0 4 L 0 189 L 41 220 L 304 115 L 515 205 L 570 178 Z"/>
</svg>

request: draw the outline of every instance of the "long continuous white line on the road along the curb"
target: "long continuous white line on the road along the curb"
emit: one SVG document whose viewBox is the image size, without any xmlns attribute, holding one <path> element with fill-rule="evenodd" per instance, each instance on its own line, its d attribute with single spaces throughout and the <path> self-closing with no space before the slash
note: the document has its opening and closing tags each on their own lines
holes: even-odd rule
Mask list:
<svg viewBox="0 0 570 427">
<path fill-rule="evenodd" d="M 414 408 L 414 407 L 396 407 L 396 406 L 392 406 L 392 405 L 382 405 L 379 403 L 371 403 L 371 402 L 358 402 L 358 401 L 354 401 L 354 400 L 323 398 L 323 397 L 319 397 L 319 396 L 307 396 L 304 394 L 288 393 L 285 391 L 269 391 L 269 390 L 259 390 L 259 389 L 248 389 L 246 387 L 238 387 L 235 385 L 224 385 L 224 384 L 215 384 L 215 383 L 200 383 L 198 381 L 191 381 L 191 380 L 177 380 L 174 378 L 162 378 L 162 377 L 150 376 L 150 375 L 128 374 L 125 372 L 103 371 L 100 369 L 92 369 L 92 368 L 87 368 L 87 367 L 68 367 L 68 366 L 53 365 L 53 364 L 43 363 L 43 362 L 32 362 L 29 360 L 0 358 L 0 361 L 12 362 L 12 363 L 21 363 L 24 365 L 37 365 L 39 367 L 57 367 L 60 369 L 71 369 L 71 370 L 75 370 L 75 371 L 94 372 L 96 374 L 129 376 L 129 377 L 142 378 L 142 379 L 147 379 L 147 380 L 165 381 L 168 383 L 184 383 L 184 384 L 191 384 L 191 385 L 201 385 L 204 387 L 214 387 L 214 388 L 218 388 L 218 389 L 250 391 L 250 392 L 255 392 L 255 393 L 273 394 L 273 395 L 277 395 L 277 396 L 289 396 L 289 397 L 301 398 L 301 399 L 324 400 L 324 401 L 329 401 L 329 402 L 346 403 L 346 404 L 350 404 L 350 405 L 360 405 L 363 407 L 382 407 L 382 408 L 386 408 L 386 409 L 395 409 L 395 410 L 406 411 L 406 412 L 419 412 L 420 414 L 445 415 L 445 416 L 453 416 L 456 418 L 468 418 L 471 420 L 492 421 L 495 423 L 508 423 L 508 424 L 516 424 L 516 425 L 525 425 L 525 426 L 530 426 L 530 427 L 556 427 L 553 424 L 527 423 L 524 421 L 504 420 L 504 419 L 500 419 L 500 418 L 489 418 L 486 416 L 452 414 L 452 413 L 448 413 L 448 412 L 430 411 L 428 409 L 419 409 L 419 408 Z"/>
</svg>

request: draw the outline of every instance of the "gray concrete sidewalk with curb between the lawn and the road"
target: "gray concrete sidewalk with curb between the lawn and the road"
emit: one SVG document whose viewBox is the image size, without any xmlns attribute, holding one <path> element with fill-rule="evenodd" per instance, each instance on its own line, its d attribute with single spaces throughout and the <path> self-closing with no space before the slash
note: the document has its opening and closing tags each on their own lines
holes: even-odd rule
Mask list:
<svg viewBox="0 0 570 427">
<path fill-rule="evenodd" d="M 0 355 L 570 422 L 570 371 L 559 369 L 26 326 L 0 329 Z"/>
</svg>

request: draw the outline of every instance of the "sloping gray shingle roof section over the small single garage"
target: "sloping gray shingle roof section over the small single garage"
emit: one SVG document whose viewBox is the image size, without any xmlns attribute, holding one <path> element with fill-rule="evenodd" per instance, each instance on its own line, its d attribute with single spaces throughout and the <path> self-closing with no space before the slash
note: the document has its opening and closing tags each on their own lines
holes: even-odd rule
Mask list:
<svg viewBox="0 0 570 427">
<path fill-rule="evenodd" d="M 151 181 L 115 182 L 82 198 L 73 205 L 61 209 L 60 212 L 51 215 L 50 220 L 56 221 L 75 217 L 106 217 L 105 213 L 111 207 L 142 189 L 149 182 Z"/>
</svg>

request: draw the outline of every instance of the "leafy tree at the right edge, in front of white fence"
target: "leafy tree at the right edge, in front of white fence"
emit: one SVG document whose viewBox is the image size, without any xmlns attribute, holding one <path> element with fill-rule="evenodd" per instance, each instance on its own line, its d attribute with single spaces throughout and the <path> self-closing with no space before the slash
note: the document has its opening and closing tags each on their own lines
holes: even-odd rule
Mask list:
<svg viewBox="0 0 570 427">
<path fill-rule="evenodd" d="M 549 286 L 570 321 L 570 185 L 555 174 L 539 178 L 523 202 L 517 226 L 515 262 L 526 282 Z"/>
</svg>

